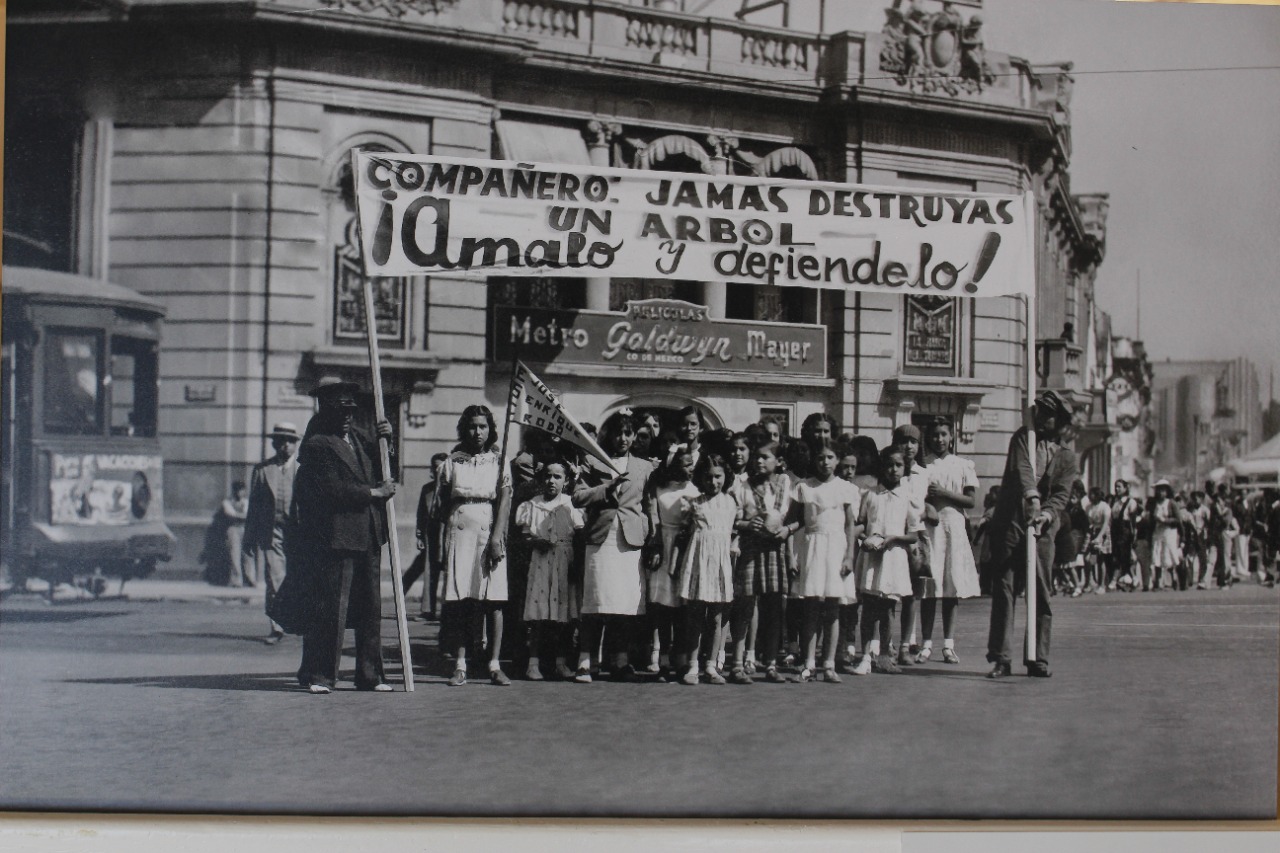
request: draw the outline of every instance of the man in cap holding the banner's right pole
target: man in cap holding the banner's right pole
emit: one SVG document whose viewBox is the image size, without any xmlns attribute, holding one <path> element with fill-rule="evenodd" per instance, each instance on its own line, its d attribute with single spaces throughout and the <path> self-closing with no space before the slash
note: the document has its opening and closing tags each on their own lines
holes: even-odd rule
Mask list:
<svg viewBox="0 0 1280 853">
<path fill-rule="evenodd" d="M 1036 648 L 1023 649 L 1027 675 L 1048 678 L 1048 646 L 1053 616 L 1050 590 L 1053 570 L 1053 537 L 1061 524 L 1071 496 L 1071 483 L 1078 476 L 1075 452 L 1060 444 L 1064 428 L 1071 423 L 1071 405 L 1056 391 L 1044 391 L 1036 398 L 1032 418 L 1036 425 L 1034 471 L 1028 447 L 1028 429 L 1020 428 L 1009 442 L 1005 475 L 992 515 L 991 565 L 995 567 L 991 589 L 991 631 L 987 660 L 992 663 L 987 678 L 1000 679 L 1012 674 L 1014 602 L 1027 585 L 1027 533 L 1036 530 Z M 1030 617 L 1030 615 L 1028 615 Z"/>
</svg>

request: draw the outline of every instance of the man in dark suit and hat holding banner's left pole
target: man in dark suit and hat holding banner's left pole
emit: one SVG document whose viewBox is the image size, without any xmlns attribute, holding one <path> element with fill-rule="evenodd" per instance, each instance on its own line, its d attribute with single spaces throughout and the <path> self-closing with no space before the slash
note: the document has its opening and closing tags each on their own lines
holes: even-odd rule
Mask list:
<svg viewBox="0 0 1280 853">
<path fill-rule="evenodd" d="M 356 689 L 392 689 L 383 680 L 380 575 L 396 482 L 378 470 L 376 443 L 352 428 L 357 389 L 321 382 L 311 392 L 320 411 L 307 424 L 293 484 L 289 574 L 306 573 L 298 683 L 317 694 L 338 680 L 346 628 L 356 630 Z M 389 438 L 390 424 L 379 421 L 378 434 Z"/>
</svg>

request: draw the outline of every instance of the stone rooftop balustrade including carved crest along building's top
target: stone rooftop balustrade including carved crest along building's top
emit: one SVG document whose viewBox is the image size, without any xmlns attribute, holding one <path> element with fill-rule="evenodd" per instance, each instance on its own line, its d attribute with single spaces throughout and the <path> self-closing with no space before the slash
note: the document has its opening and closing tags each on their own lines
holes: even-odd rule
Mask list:
<svg viewBox="0 0 1280 853">
<path fill-rule="evenodd" d="M 413 29 L 527 40 L 534 56 L 575 55 L 611 63 L 663 64 L 727 79 L 787 86 L 859 86 L 980 100 L 1051 111 L 1066 120 L 1066 67 L 1030 67 L 988 51 L 977 17 L 942 4 L 914 38 L 897 5 L 879 32 L 804 33 L 730 17 L 707 17 L 625 0 L 293 0 L 328 10 L 403 22 Z M 919 24 L 920 20 L 914 23 Z"/>
</svg>

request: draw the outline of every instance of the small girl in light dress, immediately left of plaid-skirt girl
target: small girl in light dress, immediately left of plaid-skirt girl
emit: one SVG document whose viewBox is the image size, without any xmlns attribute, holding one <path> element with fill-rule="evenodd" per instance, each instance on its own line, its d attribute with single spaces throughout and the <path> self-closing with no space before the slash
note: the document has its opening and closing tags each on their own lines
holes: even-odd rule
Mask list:
<svg viewBox="0 0 1280 853">
<path fill-rule="evenodd" d="M 723 457 L 704 451 L 694 467 L 699 496 L 690 501 L 680 561 L 680 597 L 685 602 L 685 653 L 689 669 L 680 679 L 698 684 L 698 649 L 707 654 L 705 676 L 724 684 L 716 669 L 723 639 L 724 611 L 733 601 L 733 523 L 737 501 L 728 493 L 733 473 Z"/>
</svg>

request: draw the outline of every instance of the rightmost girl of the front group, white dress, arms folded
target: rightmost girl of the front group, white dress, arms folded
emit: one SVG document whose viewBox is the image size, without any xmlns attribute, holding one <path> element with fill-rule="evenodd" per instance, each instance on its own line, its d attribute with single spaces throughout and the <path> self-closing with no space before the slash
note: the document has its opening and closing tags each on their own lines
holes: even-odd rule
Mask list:
<svg viewBox="0 0 1280 853">
<path fill-rule="evenodd" d="M 951 424 L 940 420 L 929 430 L 932 456 L 928 502 L 938 511 L 938 523 L 929 528 L 929 560 L 932 578 L 920 583 L 920 635 L 923 648 L 915 662 L 924 663 L 933 656 L 933 621 L 938 599 L 942 599 L 942 662 L 959 663 L 955 649 L 956 607 L 961 598 L 980 593 L 978 566 L 965 529 L 965 510 L 972 510 L 978 494 L 978 471 L 973 462 L 960 459 L 952 450 Z"/>
</svg>

